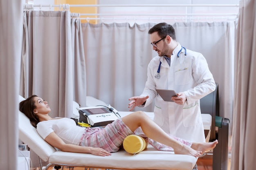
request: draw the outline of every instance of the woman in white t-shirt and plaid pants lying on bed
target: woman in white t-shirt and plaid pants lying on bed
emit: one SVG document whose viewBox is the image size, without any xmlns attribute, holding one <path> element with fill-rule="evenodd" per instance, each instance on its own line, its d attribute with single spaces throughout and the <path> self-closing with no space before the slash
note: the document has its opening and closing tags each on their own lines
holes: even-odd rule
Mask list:
<svg viewBox="0 0 256 170">
<path fill-rule="evenodd" d="M 175 154 L 199 157 L 218 144 L 218 141 L 192 143 L 183 139 L 175 140 L 142 111 L 119 118 L 103 129 L 83 128 L 76 126 L 72 119 L 50 117 L 49 105 L 36 95 L 20 102 L 20 111 L 30 119 L 31 124 L 47 143 L 65 152 L 111 155 L 110 152 L 117 152 L 125 137 L 133 134 L 139 127 L 148 138 L 173 148 Z"/>
</svg>

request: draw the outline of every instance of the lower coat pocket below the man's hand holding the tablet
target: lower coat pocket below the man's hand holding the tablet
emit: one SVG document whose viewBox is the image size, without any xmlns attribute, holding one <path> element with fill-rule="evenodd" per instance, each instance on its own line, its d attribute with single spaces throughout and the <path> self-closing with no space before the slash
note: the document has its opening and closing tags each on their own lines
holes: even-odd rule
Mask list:
<svg viewBox="0 0 256 170">
<path fill-rule="evenodd" d="M 200 124 L 200 117 L 198 116 L 199 105 L 183 108 L 183 125 L 185 127 L 195 126 Z"/>
</svg>

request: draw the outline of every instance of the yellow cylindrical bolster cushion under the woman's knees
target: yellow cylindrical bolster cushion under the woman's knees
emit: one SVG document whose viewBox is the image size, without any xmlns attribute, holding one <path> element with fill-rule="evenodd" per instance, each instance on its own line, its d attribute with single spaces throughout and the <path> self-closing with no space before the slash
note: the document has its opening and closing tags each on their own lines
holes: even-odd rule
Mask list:
<svg viewBox="0 0 256 170">
<path fill-rule="evenodd" d="M 148 142 L 143 137 L 137 135 L 129 135 L 124 139 L 123 146 L 126 152 L 135 154 L 146 149 Z"/>
</svg>

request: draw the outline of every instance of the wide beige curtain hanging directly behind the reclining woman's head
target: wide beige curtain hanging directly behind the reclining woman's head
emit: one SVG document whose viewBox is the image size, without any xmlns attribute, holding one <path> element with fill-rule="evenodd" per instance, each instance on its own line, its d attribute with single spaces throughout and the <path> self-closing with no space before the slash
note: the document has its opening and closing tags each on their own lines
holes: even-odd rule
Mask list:
<svg viewBox="0 0 256 170">
<path fill-rule="evenodd" d="M 52 117 L 72 117 L 70 11 L 24 11 L 23 14 L 24 80 L 21 82 L 24 84 L 20 94 L 25 98 L 38 95 L 45 99 Z"/>
</svg>

